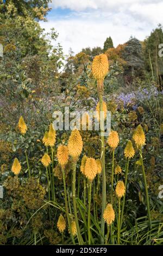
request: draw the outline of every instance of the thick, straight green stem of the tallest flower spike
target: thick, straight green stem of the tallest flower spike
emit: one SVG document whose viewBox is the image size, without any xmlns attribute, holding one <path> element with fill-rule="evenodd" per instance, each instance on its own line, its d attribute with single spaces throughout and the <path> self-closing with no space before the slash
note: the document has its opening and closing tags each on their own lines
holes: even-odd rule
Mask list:
<svg viewBox="0 0 163 256">
<path fill-rule="evenodd" d="M 99 110 L 103 111 L 103 97 L 102 93 L 99 93 Z M 106 174 L 105 174 L 105 141 L 104 141 L 104 117 L 100 114 L 100 131 L 101 131 L 101 161 L 102 161 L 102 215 L 101 215 L 101 232 L 104 236 L 105 222 L 103 218 L 105 206 L 106 206 Z M 101 235 L 101 244 L 104 244 L 104 238 Z"/>
</svg>

